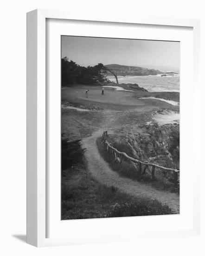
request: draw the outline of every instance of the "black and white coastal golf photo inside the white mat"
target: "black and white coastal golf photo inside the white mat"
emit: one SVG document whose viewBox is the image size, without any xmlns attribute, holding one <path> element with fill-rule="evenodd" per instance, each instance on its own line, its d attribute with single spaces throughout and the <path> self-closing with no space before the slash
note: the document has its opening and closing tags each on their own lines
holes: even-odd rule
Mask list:
<svg viewBox="0 0 205 256">
<path fill-rule="evenodd" d="M 61 36 L 61 219 L 179 214 L 180 42 Z"/>
</svg>

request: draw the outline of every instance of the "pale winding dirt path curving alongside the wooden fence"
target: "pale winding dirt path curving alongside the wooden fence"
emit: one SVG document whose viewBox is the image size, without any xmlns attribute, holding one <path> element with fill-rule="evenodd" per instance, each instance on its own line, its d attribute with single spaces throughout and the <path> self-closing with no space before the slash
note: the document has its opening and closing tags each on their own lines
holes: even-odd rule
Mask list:
<svg viewBox="0 0 205 256">
<path fill-rule="evenodd" d="M 120 176 L 114 172 L 107 162 L 105 162 L 98 152 L 96 139 L 102 135 L 105 128 L 99 129 L 92 136 L 83 139 L 82 146 L 86 148 L 85 157 L 88 161 L 88 168 L 91 174 L 103 184 L 118 187 L 123 192 L 138 196 L 144 195 L 152 199 L 157 199 L 163 204 L 166 203 L 171 209 L 179 213 L 179 195 L 168 191 L 161 191 L 152 188 L 150 185 Z M 110 133 L 110 129 L 109 129 Z"/>
</svg>

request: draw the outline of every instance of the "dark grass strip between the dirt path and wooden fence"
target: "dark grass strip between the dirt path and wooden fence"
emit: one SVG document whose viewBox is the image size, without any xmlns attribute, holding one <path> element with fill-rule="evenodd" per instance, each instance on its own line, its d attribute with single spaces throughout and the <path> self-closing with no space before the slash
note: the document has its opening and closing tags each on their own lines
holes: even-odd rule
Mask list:
<svg viewBox="0 0 205 256">
<path fill-rule="evenodd" d="M 97 138 L 96 143 L 98 150 L 100 152 L 100 155 L 103 157 L 103 159 L 109 163 L 109 166 L 116 172 L 118 172 L 120 175 L 130 178 L 132 180 L 137 180 L 139 182 L 143 183 L 149 183 L 152 187 L 158 190 L 167 190 L 170 192 L 179 192 L 178 189 L 174 187 L 173 182 L 170 182 L 167 179 L 167 173 L 164 174 L 161 171 L 156 171 L 155 172 L 155 177 L 156 180 L 152 181 L 151 180 L 151 174 L 146 171 L 145 175 L 140 176 L 136 168 L 129 164 L 128 162 L 123 161 L 121 164 L 118 162 L 114 162 L 113 156 L 110 155 L 105 149 L 102 142 L 102 138 Z M 112 146 L 116 148 L 117 150 L 121 152 L 126 152 L 128 155 L 134 157 L 131 154 L 130 148 L 127 148 L 126 145 L 121 144 L 121 143 L 112 143 Z M 126 150 L 127 149 L 127 150 Z"/>
</svg>

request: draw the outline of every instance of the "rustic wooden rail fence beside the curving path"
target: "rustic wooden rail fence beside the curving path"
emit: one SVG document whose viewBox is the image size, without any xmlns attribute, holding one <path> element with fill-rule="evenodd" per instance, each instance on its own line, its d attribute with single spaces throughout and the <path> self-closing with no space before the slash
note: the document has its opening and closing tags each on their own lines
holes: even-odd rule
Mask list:
<svg viewBox="0 0 205 256">
<path fill-rule="evenodd" d="M 131 163 L 135 167 L 135 169 L 138 170 L 140 177 L 141 177 L 141 175 L 145 174 L 146 170 L 148 170 L 151 172 L 152 180 L 156 179 L 156 177 L 155 177 L 156 169 L 163 170 L 166 172 L 172 172 L 174 185 L 175 185 L 175 187 L 179 188 L 179 170 L 173 169 L 173 168 L 166 168 L 166 167 L 160 166 L 155 163 L 142 162 L 138 159 L 132 158 L 132 157 L 128 156 L 126 153 L 120 152 L 116 148 L 112 147 L 111 144 L 107 141 L 107 136 L 108 136 L 108 132 L 104 131 L 102 134 L 102 143 L 104 144 L 108 153 L 113 155 L 115 162 L 122 163 L 122 161 L 127 161 L 127 162 Z"/>
</svg>

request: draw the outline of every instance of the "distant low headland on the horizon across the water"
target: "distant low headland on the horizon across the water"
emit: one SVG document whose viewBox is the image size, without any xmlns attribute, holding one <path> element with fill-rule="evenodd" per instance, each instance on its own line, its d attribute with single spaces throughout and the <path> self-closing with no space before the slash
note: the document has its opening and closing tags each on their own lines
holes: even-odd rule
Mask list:
<svg viewBox="0 0 205 256">
<path fill-rule="evenodd" d="M 105 65 L 109 69 L 112 69 L 117 75 L 156 75 L 164 74 L 164 72 L 156 69 L 148 69 L 145 67 L 134 67 L 134 66 L 124 66 L 118 64 Z M 109 72 L 108 72 L 109 73 Z"/>
</svg>

